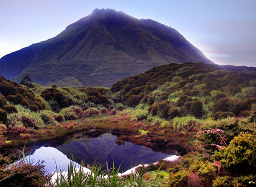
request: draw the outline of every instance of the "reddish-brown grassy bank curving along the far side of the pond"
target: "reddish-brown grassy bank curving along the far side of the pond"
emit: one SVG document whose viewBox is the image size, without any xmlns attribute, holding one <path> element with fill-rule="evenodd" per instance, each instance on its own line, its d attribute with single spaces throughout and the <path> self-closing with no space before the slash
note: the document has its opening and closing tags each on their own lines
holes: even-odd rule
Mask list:
<svg viewBox="0 0 256 187">
<path fill-rule="evenodd" d="M 72 128 L 70 128 L 72 126 Z M 143 129 L 143 130 L 142 130 Z M 23 141 L 6 143 L 3 150 L 22 150 L 26 146 L 55 146 L 61 145 L 74 138 L 98 137 L 104 133 L 117 135 L 117 144 L 129 141 L 135 145 L 150 147 L 154 151 L 176 152 L 179 155 L 187 153 L 190 146 L 188 134 L 178 133 L 168 128 L 156 128 L 150 126 L 147 121 L 134 121 L 129 116 L 104 116 L 84 118 L 82 120 L 68 121 L 47 129 L 40 129 L 32 134 L 31 138 Z"/>
</svg>

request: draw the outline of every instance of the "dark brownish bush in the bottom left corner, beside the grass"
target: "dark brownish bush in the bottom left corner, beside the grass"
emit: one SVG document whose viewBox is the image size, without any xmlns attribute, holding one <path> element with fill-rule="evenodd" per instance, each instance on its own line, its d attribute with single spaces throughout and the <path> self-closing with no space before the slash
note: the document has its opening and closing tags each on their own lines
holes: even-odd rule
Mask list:
<svg viewBox="0 0 256 187">
<path fill-rule="evenodd" d="M 45 186 L 50 179 L 51 176 L 47 175 L 43 162 L 36 164 L 18 162 L 0 169 L 1 186 L 40 187 Z"/>
</svg>

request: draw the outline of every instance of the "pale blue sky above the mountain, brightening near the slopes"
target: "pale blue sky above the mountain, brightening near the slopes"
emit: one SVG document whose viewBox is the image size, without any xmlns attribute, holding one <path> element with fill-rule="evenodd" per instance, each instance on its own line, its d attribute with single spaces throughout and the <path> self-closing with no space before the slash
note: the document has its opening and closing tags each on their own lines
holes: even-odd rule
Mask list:
<svg viewBox="0 0 256 187">
<path fill-rule="evenodd" d="M 95 8 L 175 28 L 219 65 L 256 66 L 256 0 L 0 0 L 0 58 L 56 36 Z"/>
</svg>

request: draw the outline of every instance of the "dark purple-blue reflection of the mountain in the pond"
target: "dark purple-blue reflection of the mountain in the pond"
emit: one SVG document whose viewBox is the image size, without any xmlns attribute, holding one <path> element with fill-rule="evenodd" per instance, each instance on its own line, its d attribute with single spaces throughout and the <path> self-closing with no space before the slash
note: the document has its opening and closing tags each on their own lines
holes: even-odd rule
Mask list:
<svg viewBox="0 0 256 187">
<path fill-rule="evenodd" d="M 75 158 L 78 163 L 82 161 L 85 165 L 91 166 L 94 163 L 102 163 L 102 170 L 106 169 L 106 162 L 112 167 L 114 161 L 115 166 L 121 165 L 121 172 L 141 163 L 157 162 L 168 156 L 162 152 L 152 151 L 148 147 L 133 145 L 131 142 L 125 142 L 125 145 L 120 146 L 115 143 L 115 139 L 117 137 L 112 134 L 104 134 L 98 138 L 80 139 L 56 148 L 69 159 Z"/>
</svg>

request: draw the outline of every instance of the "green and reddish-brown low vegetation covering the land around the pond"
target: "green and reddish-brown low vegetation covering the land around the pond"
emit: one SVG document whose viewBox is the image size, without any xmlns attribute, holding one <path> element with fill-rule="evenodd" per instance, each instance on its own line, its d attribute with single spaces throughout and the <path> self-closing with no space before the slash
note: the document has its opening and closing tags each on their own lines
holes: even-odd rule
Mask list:
<svg viewBox="0 0 256 187">
<path fill-rule="evenodd" d="M 161 180 L 151 172 L 127 179 L 117 177 L 113 183 L 113 173 L 113 178 L 96 180 L 70 171 L 72 180 L 62 177 L 60 183 L 51 185 L 134 186 L 137 182 L 137 186 L 152 186 L 150 181 L 156 179 L 162 186 L 254 185 L 255 80 L 255 70 L 229 70 L 203 63 L 154 67 L 120 80 L 110 89 L 40 87 L 27 78 L 18 84 L 1 76 L 0 147 L 68 138 L 92 128 L 119 131 L 123 133 L 116 141 L 120 145 L 130 141 L 176 151 L 181 157 L 162 165 Z M 10 159 L 1 155 L 0 172 L 6 171 Z M 15 178 L 12 172 L 26 167 L 24 163 L 11 167 L 13 170 L 1 175 L 0 181 L 8 175 Z M 35 175 L 42 175 L 42 182 L 49 184 L 42 165 L 36 169 Z M 151 165 L 151 171 L 157 169 Z M 33 177 L 24 176 L 24 180 Z"/>
</svg>

